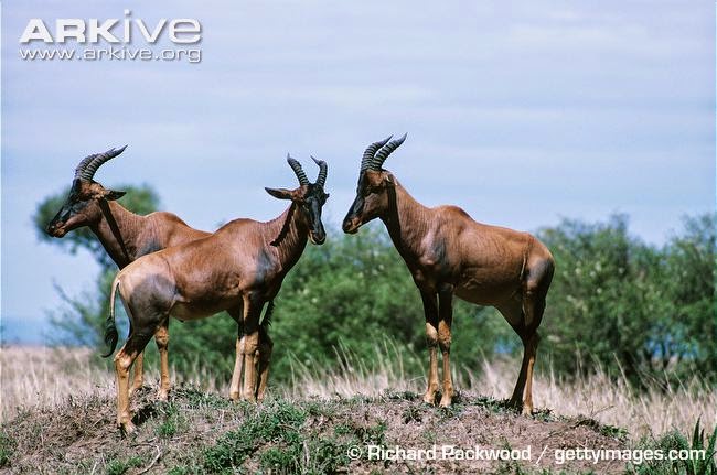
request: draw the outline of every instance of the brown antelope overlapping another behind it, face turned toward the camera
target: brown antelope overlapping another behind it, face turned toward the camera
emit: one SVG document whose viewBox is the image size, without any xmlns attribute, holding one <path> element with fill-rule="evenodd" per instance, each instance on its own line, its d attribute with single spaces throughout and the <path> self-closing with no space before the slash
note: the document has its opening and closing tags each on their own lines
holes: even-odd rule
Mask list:
<svg viewBox="0 0 717 475">
<path fill-rule="evenodd" d="M 119 292 L 130 321 L 127 342 L 115 356 L 117 424 L 121 430 L 133 430 L 128 370 L 170 316 L 195 320 L 226 310 L 240 321 L 229 390 L 246 400 L 263 399 L 268 366 L 259 370 L 258 381 L 255 375 L 261 309 L 279 292 L 307 240 L 315 245 L 325 240 L 321 208 L 329 197 L 323 191 L 328 168 L 325 162 L 313 160 L 319 165 L 315 183 L 309 182 L 299 162 L 288 158 L 300 186 L 266 188 L 274 197 L 291 201 L 274 220 L 235 219 L 208 237 L 143 256 L 119 271 L 111 288 L 106 339 L 114 350 L 117 345 L 114 302 Z M 243 367 L 244 387 L 239 393 Z"/>
</svg>

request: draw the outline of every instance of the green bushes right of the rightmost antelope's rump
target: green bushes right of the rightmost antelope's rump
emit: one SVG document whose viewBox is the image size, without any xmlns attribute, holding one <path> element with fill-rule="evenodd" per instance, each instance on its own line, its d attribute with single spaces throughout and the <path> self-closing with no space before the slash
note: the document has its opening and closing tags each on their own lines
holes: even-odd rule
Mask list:
<svg viewBox="0 0 717 475">
<path fill-rule="evenodd" d="M 662 248 L 630 236 L 624 215 L 541 231 L 556 259 L 542 332 L 555 369 L 600 365 L 635 384 L 665 370 L 686 377 L 695 365 L 715 374 L 714 218 L 686 223 Z"/>
</svg>

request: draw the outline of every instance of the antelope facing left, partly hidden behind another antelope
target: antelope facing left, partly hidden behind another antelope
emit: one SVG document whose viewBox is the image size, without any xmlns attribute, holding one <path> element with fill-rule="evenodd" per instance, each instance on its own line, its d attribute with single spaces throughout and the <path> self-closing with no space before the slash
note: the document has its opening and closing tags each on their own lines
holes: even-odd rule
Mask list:
<svg viewBox="0 0 717 475">
<path fill-rule="evenodd" d="M 137 258 L 171 246 L 189 242 L 210 236 L 210 233 L 188 226 L 176 215 L 164 212 L 151 213 L 147 216 L 136 215 L 116 202 L 125 195 L 105 188 L 94 181 L 97 170 L 107 161 L 125 151 L 110 149 L 105 153 L 96 153 L 83 159 L 75 169 L 69 195 L 62 208 L 47 225 L 47 234 L 62 238 L 67 233 L 87 226 L 103 245 L 111 260 L 119 269 L 124 269 Z M 270 321 L 270 315 L 265 316 Z M 169 378 L 169 321 L 157 330 L 154 341 L 160 354 L 160 387 L 158 398 L 167 400 L 170 389 Z M 271 341 L 261 327 L 261 349 L 264 358 L 270 358 Z M 142 387 L 143 353 L 135 361 L 135 377 L 131 391 Z"/>
</svg>

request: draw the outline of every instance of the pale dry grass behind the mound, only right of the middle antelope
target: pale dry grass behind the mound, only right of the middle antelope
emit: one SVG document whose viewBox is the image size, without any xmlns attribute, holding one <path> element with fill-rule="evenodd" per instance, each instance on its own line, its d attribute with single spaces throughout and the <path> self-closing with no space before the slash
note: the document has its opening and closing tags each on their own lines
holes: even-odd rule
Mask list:
<svg viewBox="0 0 717 475">
<path fill-rule="evenodd" d="M 367 367 L 347 352 L 338 356 L 343 365 L 333 371 L 315 371 L 297 363 L 297 377 L 291 387 L 285 389 L 286 395 L 328 399 L 356 393 L 379 396 L 386 390 L 422 393 L 426 389 L 424 376 L 409 378 L 395 363 L 406 355 L 390 345 L 377 347 L 374 359 L 378 363 L 374 367 Z M 453 381 L 459 391 L 469 395 L 507 399 L 518 369 L 520 361 L 485 361 L 480 375 L 464 369 L 453 374 Z M 604 371 L 570 382 L 555 375 L 536 376 L 533 401 L 537 409 L 549 408 L 556 414 L 585 415 L 602 424 L 624 428 L 633 439 L 656 436 L 672 429 L 691 433 L 698 418 L 707 428 L 717 425 L 716 388 L 698 378 L 679 386 L 664 386 L 666 390 L 654 384 L 644 392 L 635 392 L 625 379 L 613 381 Z"/>
</svg>

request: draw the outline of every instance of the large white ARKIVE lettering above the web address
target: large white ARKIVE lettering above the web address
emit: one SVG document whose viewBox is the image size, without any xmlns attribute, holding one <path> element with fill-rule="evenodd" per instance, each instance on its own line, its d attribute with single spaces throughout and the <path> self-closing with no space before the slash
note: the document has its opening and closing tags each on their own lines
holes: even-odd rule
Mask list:
<svg viewBox="0 0 717 475">
<path fill-rule="evenodd" d="M 54 29 L 49 28 L 42 19 L 33 18 L 28 21 L 20 43 L 52 44 L 74 41 L 78 44 L 131 44 L 137 40 L 154 44 L 165 36 L 174 44 L 193 44 L 202 40 L 202 24 L 196 19 L 162 18 L 148 24 L 142 19 L 131 18 L 131 14 L 130 10 L 125 10 L 125 17 L 121 19 L 56 19 Z"/>
</svg>

